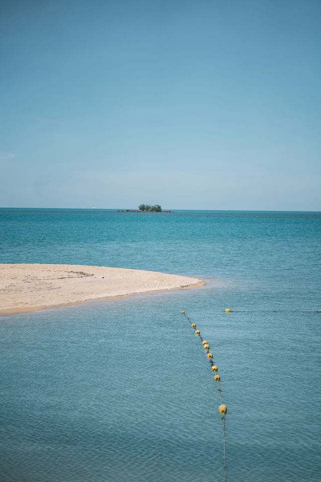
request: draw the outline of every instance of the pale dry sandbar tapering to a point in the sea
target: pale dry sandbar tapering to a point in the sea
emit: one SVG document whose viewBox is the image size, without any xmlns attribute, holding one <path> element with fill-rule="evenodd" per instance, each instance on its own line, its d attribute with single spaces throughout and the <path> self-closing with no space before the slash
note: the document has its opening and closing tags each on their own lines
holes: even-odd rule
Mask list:
<svg viewBox="0 0 321 482">
<path fill-rule="evenodd" d="M 195 288 L 197 278 L 104 266 L 0 264 L 0 314 Z"/>
</svg>

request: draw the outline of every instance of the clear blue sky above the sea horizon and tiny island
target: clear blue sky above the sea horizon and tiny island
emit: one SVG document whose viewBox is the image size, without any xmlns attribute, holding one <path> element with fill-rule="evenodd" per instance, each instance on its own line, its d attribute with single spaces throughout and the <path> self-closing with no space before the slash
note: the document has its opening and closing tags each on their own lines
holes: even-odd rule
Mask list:
<svg viewBox="0 0 321 482">
<path fill-rule="evenodd" d="M 319 0 L 4 0 L 0 206 L 321 210 Z"/>
</svg>

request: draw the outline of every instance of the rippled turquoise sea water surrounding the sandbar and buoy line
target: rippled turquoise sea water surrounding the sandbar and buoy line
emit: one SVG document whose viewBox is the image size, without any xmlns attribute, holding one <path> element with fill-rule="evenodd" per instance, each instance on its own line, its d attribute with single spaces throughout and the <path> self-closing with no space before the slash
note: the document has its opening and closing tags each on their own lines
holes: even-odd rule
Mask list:
<svg viewBox="0 0 321 482">
<path fill-rule="evenodd" d="M 4 482 L 318 481 L 320 213 L 0 210 L 1 263 L 203 288 L 0 318 Z M 233 310 L 225 313 L 225 308 Z"/>
</svg>

